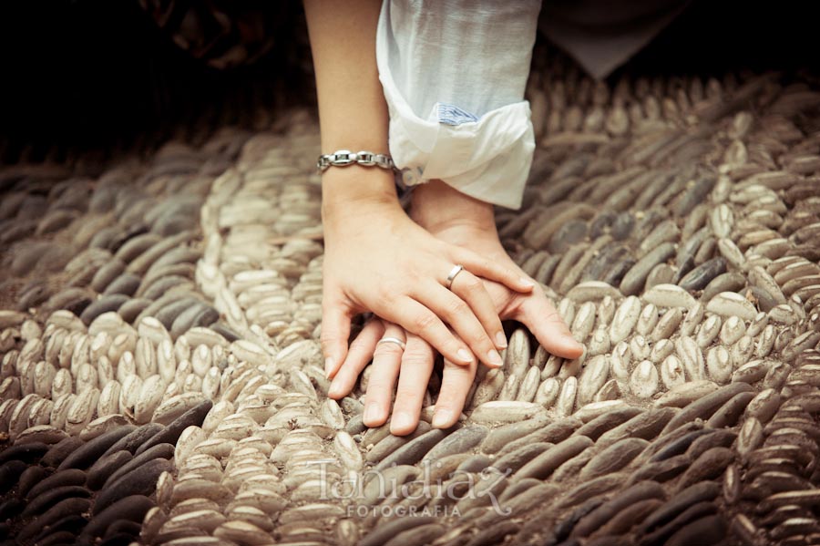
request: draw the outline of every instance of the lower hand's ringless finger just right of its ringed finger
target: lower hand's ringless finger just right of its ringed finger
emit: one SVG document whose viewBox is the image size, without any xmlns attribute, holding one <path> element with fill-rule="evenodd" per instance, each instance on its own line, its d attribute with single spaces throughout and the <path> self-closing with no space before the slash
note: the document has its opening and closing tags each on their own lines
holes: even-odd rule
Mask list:
<svg viewBox="0 0 820 546">
<path fill-rule="evenodd" d="M 390 432 L 396 436 L 410 434 L 418 426 L 427 383 L 433 372 L 433 356 L 433 348 L 425 340 L 416 335 L 407 336 L 390 419 Z"/>
</svg>

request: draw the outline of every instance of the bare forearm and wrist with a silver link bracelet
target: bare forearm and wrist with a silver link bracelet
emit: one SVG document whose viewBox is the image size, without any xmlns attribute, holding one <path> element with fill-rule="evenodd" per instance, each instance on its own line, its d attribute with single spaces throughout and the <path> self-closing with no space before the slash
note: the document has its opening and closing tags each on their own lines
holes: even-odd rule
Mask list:
<svg viewBox="0 0 820 546">
<path fill-rule="evenodd" d="M 323 153 L 388 152 L 389 118 L 375 57 L 380 6 L 380 0 L 304 0 Z M 396 201 L 392 173 L 357 165 L 332 167 L 323 176 L 323 201 L 325 212 L 348 201 Z"/>
</svg>

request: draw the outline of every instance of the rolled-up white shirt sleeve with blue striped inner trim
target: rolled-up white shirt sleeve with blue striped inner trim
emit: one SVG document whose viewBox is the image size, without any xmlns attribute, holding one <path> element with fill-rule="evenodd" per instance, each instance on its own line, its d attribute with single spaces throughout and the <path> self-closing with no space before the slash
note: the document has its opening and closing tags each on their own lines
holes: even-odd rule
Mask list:
<svg viewBox="0 0 820 546">
<path fill-rule="evenodd" d="M 384 0 L 376 60 L 405 185 L 441 179 L 521 206 L 535 149 L 523 98 L 539 10 L 540 0 Z"/>
</svg>

